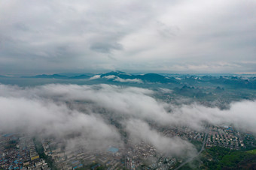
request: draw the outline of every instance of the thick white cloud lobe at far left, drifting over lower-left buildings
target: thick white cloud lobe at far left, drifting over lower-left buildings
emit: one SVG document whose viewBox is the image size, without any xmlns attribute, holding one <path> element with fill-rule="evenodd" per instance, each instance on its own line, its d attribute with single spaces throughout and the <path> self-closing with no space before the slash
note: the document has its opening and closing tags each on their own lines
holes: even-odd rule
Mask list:
<svg viewBox="0 0 256 170">
<path fill-rule="evenodd" d="M 1 85 L 0 91 L 3 92 L 0 95 L 1 131 L 55 136 L 67 140 L 69 145 L 82 145 L 87 149 L 122 145 L 117 129 L 90 109 L 87 112 L 71 109 L 47 94 L 41 96 L 39 89 Z M 70 135 L 74 137 L 70 139 Z"/>
</svg>

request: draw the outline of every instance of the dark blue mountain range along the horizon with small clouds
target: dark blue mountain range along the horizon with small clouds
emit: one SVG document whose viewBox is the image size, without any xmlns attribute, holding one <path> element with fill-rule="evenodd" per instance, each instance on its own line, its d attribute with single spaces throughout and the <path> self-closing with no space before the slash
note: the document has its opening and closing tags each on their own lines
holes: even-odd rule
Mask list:
<svg viewBox="0 0 256 170">
<path fill-rule="evenodd" d="M 8 79 L 8 76 L 0 76 Z M 162 84 L 178 84 L 178 85 L 199 85 L 203 83 L 211 83 L 215 85 L 230 85 L 234 88 L 256 88 L 255 76 L 191 76 L 191 75 L 167 75 L 157 73 L 145 73 L 145 74 L 132 74 L 123 71 L 111 71 L 108 73 L 55 73 L 55 74 L 41 74 L 35 76 L 21 76 L 20 78 L 29 79 L 81 79 L 86 81 L 97 82 L 113 82 L 113 83 L 133 83 L 133 84 L 145 84 L 145 83 L 162 83 Z"/>
</svg>

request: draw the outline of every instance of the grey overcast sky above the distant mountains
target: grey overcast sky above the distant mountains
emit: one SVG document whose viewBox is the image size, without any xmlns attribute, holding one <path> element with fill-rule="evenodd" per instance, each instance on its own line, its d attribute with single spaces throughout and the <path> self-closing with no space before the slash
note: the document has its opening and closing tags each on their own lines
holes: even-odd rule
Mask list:
<svg viewBox="0 0 256 170">
<path fill-rule="evenodd" d="M 1 0 L 0 74 L 256 73 L 255 0 Z"/>
</svg>

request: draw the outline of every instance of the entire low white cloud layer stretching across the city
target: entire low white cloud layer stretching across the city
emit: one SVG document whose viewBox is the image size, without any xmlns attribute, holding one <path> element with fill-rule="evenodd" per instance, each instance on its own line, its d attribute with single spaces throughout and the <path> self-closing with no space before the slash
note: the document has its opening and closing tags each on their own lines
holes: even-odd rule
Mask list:
<svg viewBox="0 0 256 170">
<path fill-rule="evenodd" d="M 142 140 L 163 154 L 178 156 L 193 154 L 193 145 L 178 137 L 163 136 L 148 122 L 194 130 L 204 130 L 206 123 L 233 124 L 256 133 L 255 101 L 231 103 L 230 109 L 220 110 L 197 103 L 173 106 L 156 100 L 154 93 L 145 88 L 115 85 L 0 85 L 0 129 L 59 139 L 72 134 L 78 145 L 106 148 L 123 145 L 117 127 L 108 121 L 113 118 L 122 124 L 133 142 Z"/>
</svg>

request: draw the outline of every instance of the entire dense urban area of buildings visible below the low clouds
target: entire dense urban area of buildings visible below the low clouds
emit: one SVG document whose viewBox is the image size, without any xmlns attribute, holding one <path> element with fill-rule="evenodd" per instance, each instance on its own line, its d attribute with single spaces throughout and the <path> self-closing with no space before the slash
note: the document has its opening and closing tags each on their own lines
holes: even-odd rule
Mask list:
<svg viewBox="0 0 256 170">
<path fill-rule="evenodd" d="M 207 126 L 205 132 L 187 127 L 165 128 L 164 136 L 180 136 L 192 142 L 198 151 L 223 148 L 245 151 L 256 147 L 250 132 L 239 132 L 230 126 Z M 172 147 L 170 145 L 170 147 Z M 202 153 L 203 154 L 203 153 Z M 54 138 L 38 139 L 18 133 L 1 133 L 0 169 L 175 169 L 184 163 L 181 157 L 168 157 L 156 148 L 129 140 L 123 148 L 109 146 L 106 151 L 87 151 L 78 148 L 66 151 L 63 142 Z M 207 160 L 213 161 L 212 158 Z"/>
</svg>

